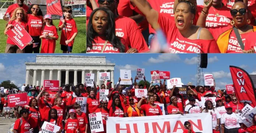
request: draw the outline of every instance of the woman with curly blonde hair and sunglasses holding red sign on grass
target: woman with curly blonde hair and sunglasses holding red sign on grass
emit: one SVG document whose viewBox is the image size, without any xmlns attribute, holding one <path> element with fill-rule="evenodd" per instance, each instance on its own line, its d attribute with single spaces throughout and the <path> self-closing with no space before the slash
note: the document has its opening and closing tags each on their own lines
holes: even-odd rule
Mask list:
<svg viewBox="0 0 256 133">
<path fill-rule="evenodd" d="M 11 20 L 8 22 L 8 25 L 6 27 L 6 29 L 4 30 L 4 34 L 6 34 L 7 30 L 9 30 L 10 28 L 13 28 L 14 24 L 18 22 L 19 24 L 21 24 L 21 26 L 28 31 L 28 24 L 26 23 L 26 13 L 25 11 L 18 7 L 14 10 L 13 12 L 13 16 L 11 17 Z M 19 47 L 11 40 L 11 38 L 7 38 L 6 41 L 7 45 L 6 45 L 6 49 L 5 49 L 5 53 L 24 53 L 24 49 L 21 50 L 19 49 Z"/>
</svg>

